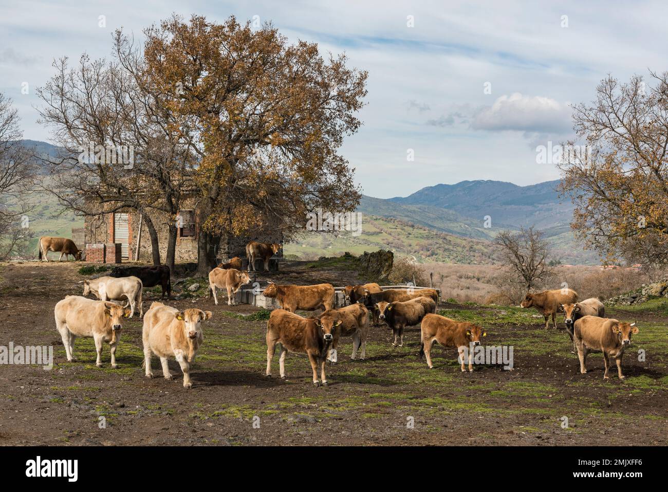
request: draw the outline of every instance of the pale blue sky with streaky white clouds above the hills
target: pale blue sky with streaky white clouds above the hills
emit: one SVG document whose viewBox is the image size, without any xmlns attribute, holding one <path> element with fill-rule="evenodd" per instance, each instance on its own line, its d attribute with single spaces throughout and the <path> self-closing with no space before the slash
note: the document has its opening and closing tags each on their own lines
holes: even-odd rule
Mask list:
<svg viewBox="0 0 668 492">
<path fill-rule="evenodd" d="M 271 21 L 367 70 L 360 130 L 341 153 L 365 195 L 406 196 L 438 183 L 559 177 L 536 146 L 574 136 L 570 104 L 589 103 L 611 74 L 668 70 L 668 4 L 660 1 L 8 1 L 0 0 L 0 91 L 24 138 L 49 141 L 35 89 L 53 59 L 110 57 L 118 27 L 178 13 Z M 104 16 L 104 22 L 101 17 Z M 255 17 L 257 16 L 257 17 Z M 104 25 L 102 25 L 104 24 Z M 26 94 L 27 92 L 27 94 Z"/>
</svg>

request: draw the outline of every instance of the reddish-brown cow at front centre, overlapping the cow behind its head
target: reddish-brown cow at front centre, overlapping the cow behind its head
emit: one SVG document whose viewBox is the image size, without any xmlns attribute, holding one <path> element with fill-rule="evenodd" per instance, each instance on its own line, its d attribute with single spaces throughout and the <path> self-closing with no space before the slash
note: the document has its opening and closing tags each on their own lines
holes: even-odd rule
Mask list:
<svg viewBox="0 0 668 492">
<path fill-rule="evenodd" d="M 325 358 L 334 340 L 335 330 L 343 322 L 336 320 L 333 326 L 323 324 L 318 318 L 302 318 L 286 310 L 273 310 L 267 321 L 267 377 L 271 378 L 271 359 L 276 344 L 281 342 L 279 370 L 285 379 L 285 356 L 287 352 L 307 354 L 313 369 L 313 384 L 320 386 L 318 368 L 323 386 L 327 386 Z"/>
</svg>

